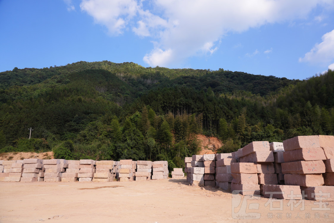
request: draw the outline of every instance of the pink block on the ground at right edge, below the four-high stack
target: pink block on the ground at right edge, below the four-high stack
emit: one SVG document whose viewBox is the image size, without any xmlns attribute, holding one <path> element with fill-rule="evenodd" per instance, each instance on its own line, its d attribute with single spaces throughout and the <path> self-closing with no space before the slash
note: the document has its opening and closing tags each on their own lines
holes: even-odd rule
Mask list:
<svg viewBox="0 0 334 223">
<path fill-rule="evenodd" d="M 307 200 L 334 201 L 334 186 L 300 187 Z"/>
</svg>

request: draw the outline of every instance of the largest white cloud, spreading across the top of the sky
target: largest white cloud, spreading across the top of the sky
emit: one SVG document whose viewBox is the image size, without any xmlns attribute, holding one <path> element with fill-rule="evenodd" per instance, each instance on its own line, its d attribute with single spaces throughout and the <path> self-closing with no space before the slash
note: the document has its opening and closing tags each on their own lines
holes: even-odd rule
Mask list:
<svg viewBox="0 0 334 223">
<path fill-rule="evenodd" d="M 169 67 L 193 55 L 214 53 L 219 40 L 229 33 L 267 23 L 291 23 L 306 18 L 318 5 L 334 5 L 333 0 L 152 0 L 146 4 L 152 6 L 148 10 L 142 3 L 82 0 L 80 8 L 111 34 L 131 28 L 138 36 L 154 38 L 157 44 L 143 60 L 150 66 Z"/>
</svg>

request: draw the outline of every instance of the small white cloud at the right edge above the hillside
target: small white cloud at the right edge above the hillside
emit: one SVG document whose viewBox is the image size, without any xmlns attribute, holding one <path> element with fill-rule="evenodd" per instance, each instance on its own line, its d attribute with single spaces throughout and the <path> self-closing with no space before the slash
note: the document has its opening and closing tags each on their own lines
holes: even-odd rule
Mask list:
<svg viewBox="0 0 334 223">
<path fill-rule="evenodd" d="M 299 62 L 309 62 L 312 64 L 329 64 L 334 61 L 334 29 L 322 36 L 322 42 L 317 43 L 305 54 L 304 58 L 299 58 Z M 331 66 L 331 65 L 330 65 Z"/>
</svg>

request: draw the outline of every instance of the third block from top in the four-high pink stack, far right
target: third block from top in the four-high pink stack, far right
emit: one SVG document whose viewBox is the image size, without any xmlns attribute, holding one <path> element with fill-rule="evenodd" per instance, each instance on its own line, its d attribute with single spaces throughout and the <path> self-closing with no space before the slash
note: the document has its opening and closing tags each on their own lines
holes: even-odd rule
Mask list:
<svg viewBox="0 0 334 223">
<path fill-rule="evenodd" d="M 325 173 L 325 170 L 325 164 L 322 160 L 282 163 L 283 174 L 321 174 Z"/>
</svg>

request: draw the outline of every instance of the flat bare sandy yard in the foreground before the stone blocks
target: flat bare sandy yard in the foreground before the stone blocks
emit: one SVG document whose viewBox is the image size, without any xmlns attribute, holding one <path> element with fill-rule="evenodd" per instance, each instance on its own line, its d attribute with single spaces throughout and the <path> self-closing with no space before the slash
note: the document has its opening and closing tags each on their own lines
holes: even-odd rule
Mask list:
<svg viewBox="0 0 334 223">
<path fill-rule="evenodd" d="M 275 200 L 276 203 L 283 201 L 283 211 L 270 210 L 270 205 L 265 207 L 267 198 L 249 200 L 251 196 L 236 195 L 232 199 L 231 193 L 212 187 L 189 186 L 185 179 L 0 182 L 0 191 L 0 222 L 334 222 L 334 202 L 327 205 L 330 210 L 311 210 L 319 205 L 304 200 L 304 211 L 299 209 L 302 204 L 291 211 L 288 200 Z M 235 205 L 236 199 L 248 202 L 249 208 L 254 208 L 250 203 L 259 204 L 258 210 L 247 209 L 246 213 L 260 213 L 260 219 L 233 219 L 232 201 Z M 279 206 L 274 205 L 274 208 Z M 291 218 L 287 218 L 290 213 Z"/>
</svg>

